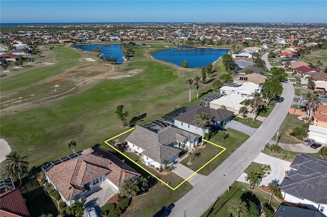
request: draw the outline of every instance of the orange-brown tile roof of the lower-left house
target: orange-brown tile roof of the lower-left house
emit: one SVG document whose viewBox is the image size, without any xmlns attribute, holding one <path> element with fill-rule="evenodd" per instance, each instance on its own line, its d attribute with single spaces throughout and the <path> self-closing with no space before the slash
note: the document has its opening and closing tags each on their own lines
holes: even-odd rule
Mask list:
<svg viewBox="0 0 327 217">
<path fill-rule="evenodd" d="M 99 147 L 85 149 L 82 155 L 54 166 L 46 175 L 66 200 L 86 191 L 83 185 L 102 175 L 117 187 L 124 180 L 122 176 L 139 176 L 119 158 Z"/>
</svg>

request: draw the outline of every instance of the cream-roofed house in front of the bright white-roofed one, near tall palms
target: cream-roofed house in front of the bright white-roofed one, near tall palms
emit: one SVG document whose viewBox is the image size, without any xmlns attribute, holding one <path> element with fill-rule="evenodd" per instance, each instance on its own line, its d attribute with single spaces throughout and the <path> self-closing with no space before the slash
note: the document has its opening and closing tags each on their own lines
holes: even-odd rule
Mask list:
<svg viewBox="0 0 327 217">
<path fill-rule="evenodd" d="M 225 108 L 226 110 L 231 111 L 234 115 L 238 115 L 240 114 L 240 108 L 244 106 L 241 102 L 246 99 L 248 99 L 246 96 L 229 93 L 211 101 L 209 106 L 214 109 Z"/>
</svg>

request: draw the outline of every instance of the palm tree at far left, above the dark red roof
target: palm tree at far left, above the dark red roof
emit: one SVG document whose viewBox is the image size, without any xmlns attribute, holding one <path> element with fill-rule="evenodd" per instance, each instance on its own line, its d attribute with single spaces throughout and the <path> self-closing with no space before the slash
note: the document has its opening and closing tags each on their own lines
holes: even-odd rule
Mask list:
<svg viewBox="0 0 327 217">
<path fill-rule="evenodd" d="M 11 151 L 6 155 L 5 162 L 7 163 L 7 167 L 12 174 L 18 175 L 20 185 L 22 184 L 20 174 L 23 174 L 29 168 L 29 162 L 25 161 L 26 158 L 27 156 L 21 157 L 17 151 Z"/>
</svg>

